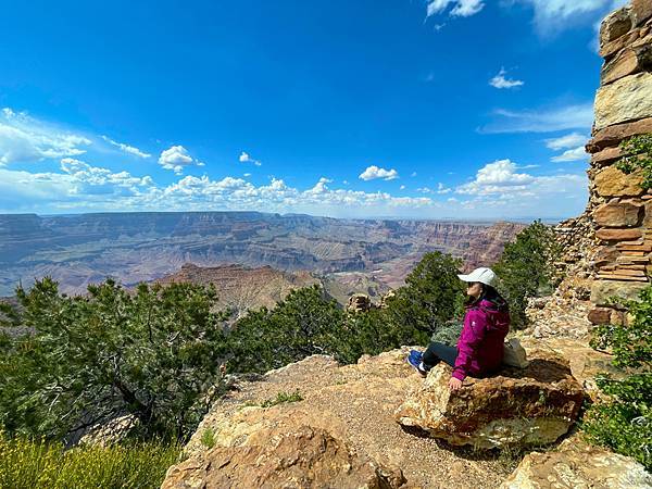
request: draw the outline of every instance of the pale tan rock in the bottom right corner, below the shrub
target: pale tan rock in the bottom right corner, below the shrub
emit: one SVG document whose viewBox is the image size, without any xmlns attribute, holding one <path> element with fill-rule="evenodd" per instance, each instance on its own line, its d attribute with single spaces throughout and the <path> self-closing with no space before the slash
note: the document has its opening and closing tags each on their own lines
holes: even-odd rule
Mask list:
<svg viewBox="0 0 652 489">
<path fill-rule="evenodd" d="M 556 450 L 526 455 L 501 489 L 649 489 L 652 475 L 631 457 L 591 447 L 578 437 Z"/>
</svg>

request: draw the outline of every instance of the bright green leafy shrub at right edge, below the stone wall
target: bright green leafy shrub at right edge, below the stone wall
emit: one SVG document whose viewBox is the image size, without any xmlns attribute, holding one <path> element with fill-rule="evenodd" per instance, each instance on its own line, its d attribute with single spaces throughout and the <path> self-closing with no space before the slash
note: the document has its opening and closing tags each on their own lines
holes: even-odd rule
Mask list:
<svg viewBox="0 0 652 489">
<path fill-rule="evenodd" d="M 591 406 L 584 428 L 589 439 L 614 451 L 634 456 L 652 469 L 652 287 L 638 301 L 622 305 L 629 310 L 630 324 L 603 325 L 594 329 L 593 348 L 610 348 L 614 366 L 623 379 L 607 375 L 597 378 L 610 401 Z"/>
</svg>

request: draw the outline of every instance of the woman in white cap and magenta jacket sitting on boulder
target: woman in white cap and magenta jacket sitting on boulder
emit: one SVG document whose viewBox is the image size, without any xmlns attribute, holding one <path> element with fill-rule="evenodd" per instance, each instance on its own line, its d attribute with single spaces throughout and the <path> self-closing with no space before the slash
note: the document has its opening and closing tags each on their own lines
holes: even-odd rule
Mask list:
<svg viewBox="0 0 652 489">
<path fill-rule="evenodd" d="M 476 268 L 457 275 L 467 283 L 468 302 L 457 348 L 431 342 L 424 353 L 412 350 L 408 362 L 424 377 L 440 361 L 453 367 L 451 390 L 462 387 L 468 375 L 481 377 L 497 371 L 503 359 L 504 339 L 510 330 L 507 303 L 494 288 L 496 274 L 490 268 Z"/>
</svg>

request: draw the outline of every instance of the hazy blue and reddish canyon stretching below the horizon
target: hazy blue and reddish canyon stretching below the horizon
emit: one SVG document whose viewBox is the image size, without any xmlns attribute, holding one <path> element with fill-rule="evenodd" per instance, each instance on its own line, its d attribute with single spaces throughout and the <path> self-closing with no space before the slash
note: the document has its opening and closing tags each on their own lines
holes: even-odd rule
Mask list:
<svg viewBox="0 0 652 489">
<path fill-rule="evenodd" d="M 185 264 L 303 271 L 338 284 L 341 294 L 360 287 L 375 294 L 400 286 L 429 251 L 461 258 L 465 269 L 491 264 L 524 227 L 259 212 L 5 214 L 0 215 L 0 296 L 43 276 L 66 293 L 84 293 L 106 277 L 133 286 Z"/>
</svg>

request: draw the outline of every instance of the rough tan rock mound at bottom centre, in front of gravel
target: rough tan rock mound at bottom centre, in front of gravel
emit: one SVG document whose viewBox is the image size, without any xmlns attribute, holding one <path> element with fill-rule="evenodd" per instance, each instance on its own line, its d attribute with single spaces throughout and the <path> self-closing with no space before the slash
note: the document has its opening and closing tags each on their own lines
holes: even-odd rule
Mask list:
<svg viewBox="0 0 652 489">
<path fill-rule="evenodd" d="M 217 447 L 173 466 L 162 489 L 176 488 L 398 488 L 400 471 L 359 456 L 324 429 L 271 430 L 261 444 Z"/>
</svg>

